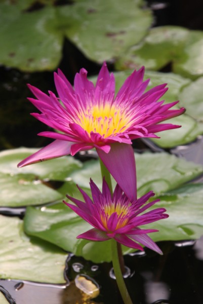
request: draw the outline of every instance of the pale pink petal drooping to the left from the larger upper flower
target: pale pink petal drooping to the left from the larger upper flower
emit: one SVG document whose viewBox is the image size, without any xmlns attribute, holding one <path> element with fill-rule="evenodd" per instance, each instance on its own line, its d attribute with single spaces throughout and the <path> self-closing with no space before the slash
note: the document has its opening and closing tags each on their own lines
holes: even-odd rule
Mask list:
<svg viewBox="0 0 203 304">
<path fill-rule="evenodd" d="M 56 139 L 46 147 L 40 149 L 36 153 L 28 156 L 26 159 L 18 164 L 18 167 L 27 166 L 30 164 L 43 162 L 53 158 L 65 156 L 70 154 L 70 148 L 73 142 Z"/>
</svg>

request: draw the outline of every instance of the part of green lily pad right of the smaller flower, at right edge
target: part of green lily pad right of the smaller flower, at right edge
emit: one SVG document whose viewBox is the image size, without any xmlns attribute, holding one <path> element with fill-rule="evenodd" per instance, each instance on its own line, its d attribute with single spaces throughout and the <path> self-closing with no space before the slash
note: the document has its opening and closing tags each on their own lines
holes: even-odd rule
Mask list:
<svg viewBox="0 0 203 304">
<path fill-rule="evenodd" d="M 203 184 L 187 184 L 161 195 L 156 207 L 166 208 L 169 218 L 149 224 L 160 231 L 153 240 L 198 239 L 203 234 L 202 194 Z"/>
</svg>

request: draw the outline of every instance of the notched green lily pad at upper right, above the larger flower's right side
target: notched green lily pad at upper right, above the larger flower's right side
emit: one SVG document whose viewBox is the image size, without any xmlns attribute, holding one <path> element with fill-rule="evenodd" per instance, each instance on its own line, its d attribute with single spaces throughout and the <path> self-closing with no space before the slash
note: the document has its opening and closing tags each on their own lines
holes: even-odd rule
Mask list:
<svg viewBox="0 0 203 304">
<path fill-rule="evenodd" d="M 116 69 L 135 69 L 144 65 L 158 70 L 172 63 L 172 70 L 196 79 L 203 75 L 203 31 L 179 26 L 151 28 L 138 45 L 130 48 L 116 62 Z"/>
</svg>

